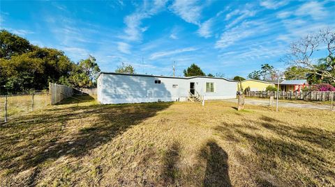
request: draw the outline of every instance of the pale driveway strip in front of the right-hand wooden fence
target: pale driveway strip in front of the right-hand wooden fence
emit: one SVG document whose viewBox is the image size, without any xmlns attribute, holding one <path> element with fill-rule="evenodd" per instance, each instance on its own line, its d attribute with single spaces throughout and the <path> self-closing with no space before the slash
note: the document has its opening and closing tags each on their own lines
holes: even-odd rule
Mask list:
<svg viewBox="0 0 335 187">
<path fill-rule="evenodd" d="M 237 103 L 237 99 L 227 99 L 225 101 L 231 101 Z M 255 105 L 262 105 L 262 106 L 268 106 L 269 101 L 267 100 L 259 100 L 259 99 L 245 99 L 246 104 L 255 104 Z M 272 106 L 276 106 L 276 99 L 274 100 L 274 104 Z M 295 108 L 313 108 L 313 109 L 319 109 L 319 110 L 329 110 L 330 106 L 325 104 L 294 104 L 294 103 L 288 103 L 288 102 L 281 102 L 279 101 L 279 107 L 295 107 Z M 332 111 L 335 111 L 335 107 Z"/>
</svg>

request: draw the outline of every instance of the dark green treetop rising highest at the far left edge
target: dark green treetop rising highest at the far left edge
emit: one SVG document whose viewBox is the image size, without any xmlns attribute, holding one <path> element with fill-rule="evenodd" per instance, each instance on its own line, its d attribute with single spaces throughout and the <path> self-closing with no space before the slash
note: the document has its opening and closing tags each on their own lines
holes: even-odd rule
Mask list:
<svg viewBox="0 0 335 187">
<path fill-rule="evenodd" d="M 6 30 L 0 31 L 0 58 L 9 59 L 13 55 L 20 55 L 32 51 L 34 48 L 28 40 Z"/>
</svg>

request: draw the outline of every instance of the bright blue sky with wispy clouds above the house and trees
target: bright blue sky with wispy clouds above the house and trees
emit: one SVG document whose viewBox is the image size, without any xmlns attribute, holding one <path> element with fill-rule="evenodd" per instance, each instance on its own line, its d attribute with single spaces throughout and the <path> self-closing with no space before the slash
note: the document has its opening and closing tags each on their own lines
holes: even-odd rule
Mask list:
<svg viewBox="0 0 335 187">
<path fill-rule="evenodd" d="M 122 62 L 137 73 L 246 76 L 279 62 L 290 42 L 335 28 L 335 1 L 0 1 L 0 28 L 101 70 Z M 142 63 L 142 56 L 144 62 Z"/>
</svg>

